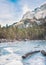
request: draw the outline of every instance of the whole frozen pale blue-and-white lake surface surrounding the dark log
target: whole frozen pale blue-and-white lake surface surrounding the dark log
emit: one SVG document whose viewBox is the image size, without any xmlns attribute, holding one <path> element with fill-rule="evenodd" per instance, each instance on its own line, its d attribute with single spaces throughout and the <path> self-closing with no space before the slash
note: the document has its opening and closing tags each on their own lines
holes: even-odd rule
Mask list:
<svg viewBox="0 0 46 65">
<path fill-rule="evenodd" d="M 46 51 L 45 40 L 0 43 L 0 65 L 46 65 L 46 56 L 40 52 L 22 59 L 22 55 L 37 50 Z"/>
</svg>

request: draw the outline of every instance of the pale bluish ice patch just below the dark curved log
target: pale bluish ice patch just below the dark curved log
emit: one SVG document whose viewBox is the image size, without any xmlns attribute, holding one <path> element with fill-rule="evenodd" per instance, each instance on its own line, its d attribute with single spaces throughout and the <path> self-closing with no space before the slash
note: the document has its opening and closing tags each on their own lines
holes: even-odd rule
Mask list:
<svg viewBox="0 0 46 65">
<path fill-rule="evenodd" d="M 28 61 L 28 62 L 27 62 Z M 30 58 L 23 61 L 24 65 L 46 65 L 46 58 L 41 53 L 32 55 Z"/>
</svg>

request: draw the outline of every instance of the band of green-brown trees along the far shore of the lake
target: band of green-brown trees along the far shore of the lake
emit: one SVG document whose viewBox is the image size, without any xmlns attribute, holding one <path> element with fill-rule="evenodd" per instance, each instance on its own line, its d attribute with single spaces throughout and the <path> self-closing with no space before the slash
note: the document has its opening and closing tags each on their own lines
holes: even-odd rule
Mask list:
<svg viewBox="0 0 46 65">
<path fill-rule="evenodd" d="M 37 40 L 46 39 L 46 26 L 34 26 L 27 28 L 18 28 L 17 26 L 1 27 L 0 25 L 0 39 L 11 39 L 11 40 Z"/>
</svg>

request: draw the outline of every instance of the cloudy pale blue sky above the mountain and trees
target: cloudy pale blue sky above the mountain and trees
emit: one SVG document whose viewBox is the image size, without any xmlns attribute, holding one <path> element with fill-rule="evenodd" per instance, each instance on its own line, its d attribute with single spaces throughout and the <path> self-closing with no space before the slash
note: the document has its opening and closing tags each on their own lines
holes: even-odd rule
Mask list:
<svg viewBox="0 0 46 65">
<path fill-rule="evenodd" d="M 12 24 L 21 20 L 24 13 L 45 3 L 46 0 L 0 0 L 0 24 Z"/>
</svg>

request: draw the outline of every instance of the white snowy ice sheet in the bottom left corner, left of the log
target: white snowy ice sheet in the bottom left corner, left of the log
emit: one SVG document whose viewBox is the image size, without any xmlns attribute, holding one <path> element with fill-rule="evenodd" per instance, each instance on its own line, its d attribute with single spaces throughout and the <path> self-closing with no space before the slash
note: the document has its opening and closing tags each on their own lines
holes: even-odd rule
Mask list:
<svg viewBox="0 0 46 65">
<path fill-rule="evenodd" d="M 23 65 L 21 56 L 16 54 L 3 55 L 0 57 L 0 65 Z"/>
</svg>

